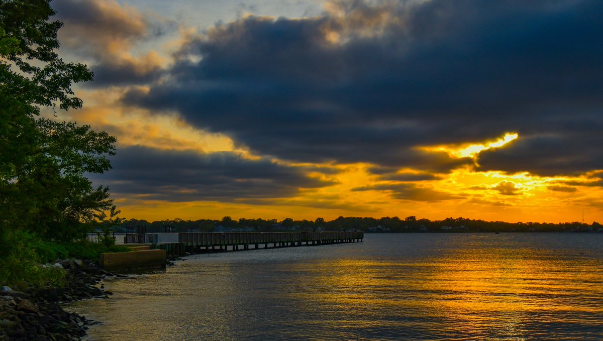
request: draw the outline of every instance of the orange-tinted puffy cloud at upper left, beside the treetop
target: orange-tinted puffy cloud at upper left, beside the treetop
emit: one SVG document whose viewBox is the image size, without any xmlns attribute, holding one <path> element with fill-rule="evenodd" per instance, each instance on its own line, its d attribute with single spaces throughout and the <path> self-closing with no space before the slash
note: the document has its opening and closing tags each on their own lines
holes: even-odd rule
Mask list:
<svg viewBox="0 0 603 341">
<path fill-rule="evenodd" d="M 53 19 L 65 23 L 60 41 L 69 51 L 93 60 L 88 87 L 146 84 L 162 75 L 154 55 L 130 57 L 137 43 L 155 39 L 174 26 L 159 16 L 104 0 L 55 0 Z"/>
</svg>

